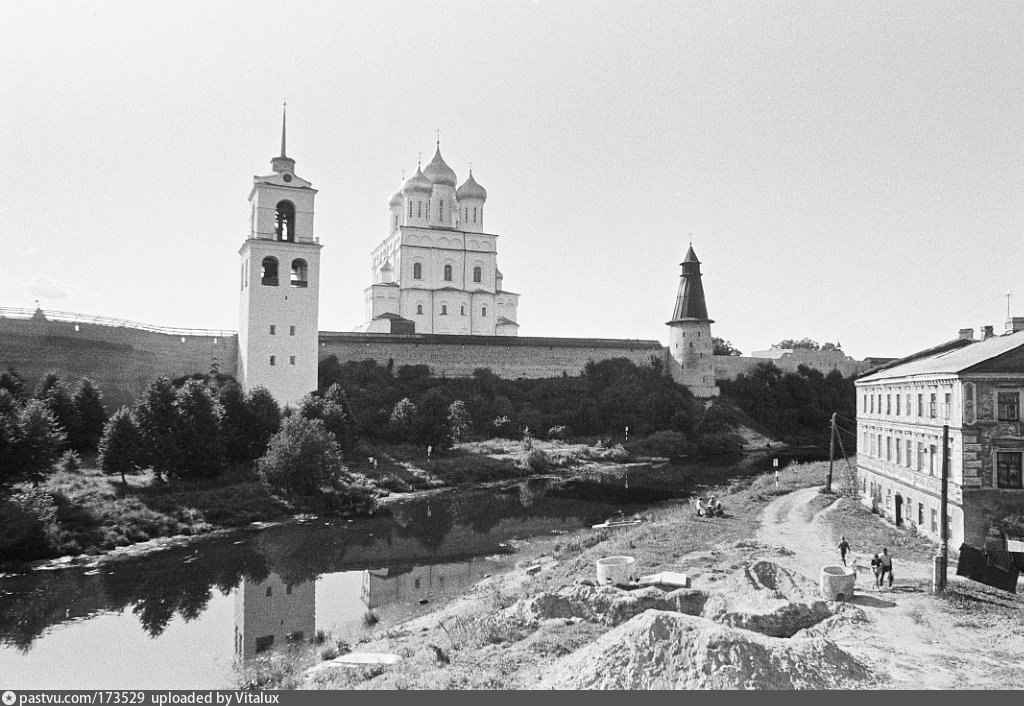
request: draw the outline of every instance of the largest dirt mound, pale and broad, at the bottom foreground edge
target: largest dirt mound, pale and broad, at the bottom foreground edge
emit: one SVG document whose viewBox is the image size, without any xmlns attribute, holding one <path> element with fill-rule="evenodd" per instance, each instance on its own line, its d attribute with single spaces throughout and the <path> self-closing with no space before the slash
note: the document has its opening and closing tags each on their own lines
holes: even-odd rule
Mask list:
<svg viewBox="0 0 1024 706">
<path fill-rule="evenodd" d="M 826 639 L 779 639 L 650 611 L 556 662 L 541 689 L 839 689 L 867 668 Z"/>
</svg>

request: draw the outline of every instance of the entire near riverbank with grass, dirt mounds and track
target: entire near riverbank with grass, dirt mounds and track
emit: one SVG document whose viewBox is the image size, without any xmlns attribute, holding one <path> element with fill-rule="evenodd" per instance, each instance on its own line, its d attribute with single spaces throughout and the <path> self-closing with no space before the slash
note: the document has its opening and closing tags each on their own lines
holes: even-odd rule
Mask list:
<svg viewBox="0 0 1024 706">
<path fill-rule="evenodd" d="M 827 463 L 736 483 L 723 518 L 684 503 L 646 522 L 516 543 L 518 567 L 413 620 L 272 653 L 238 675 L 248 689 L 940 688 L 1024 687 L 1024 600 L 951 577 L 928 592 L 934 545 L 855 501 L 822 496 Z M 837 486 L 841 488 L 841 486 Z M 857 595 L 826 603 L 817 571 L 854 545 Z M 867 559 L 895 547 L 894 588 Z M 594 563 L 628 554 L 638 573 L 686 573 L 693 587 L 587 584 Z M 677 647 L 683 646 L 682 652 Z M 340 666 L 348 650 L 393 666 Z M 955 657 L 954 657 L 955 656 Z"/>
</svg>

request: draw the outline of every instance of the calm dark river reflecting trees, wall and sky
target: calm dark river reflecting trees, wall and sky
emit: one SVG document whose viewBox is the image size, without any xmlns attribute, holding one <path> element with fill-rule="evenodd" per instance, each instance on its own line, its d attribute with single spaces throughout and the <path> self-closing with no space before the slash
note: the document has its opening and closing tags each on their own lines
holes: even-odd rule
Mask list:
<svg viewBox="0 0 1024 706">
<path fill-rule="evenodd" d="M 804 458 L 817 452 L 804 454 Z M 780 457 L 784 466 L 790 456 Z M 0 689 L 230 689 L 265 650 L 413 617 L 515 562 L 510 542 L 588 528 L 753 465 L 662 464 L 393 502 L 374 516 L 240 532 L 0 578 Z"/>
</svg>

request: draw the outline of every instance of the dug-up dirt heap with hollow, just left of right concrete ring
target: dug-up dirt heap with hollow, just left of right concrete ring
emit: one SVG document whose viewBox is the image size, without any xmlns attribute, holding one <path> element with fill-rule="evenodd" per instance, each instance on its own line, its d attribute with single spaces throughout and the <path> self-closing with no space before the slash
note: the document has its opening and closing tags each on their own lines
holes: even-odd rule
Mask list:
<svg viewBox="0 0 1024 706">
<path fill-rule="evenodd" d="M 772 637 L 791 637 L 831 614 L 813 581 L 772 562 L 756 562 L 717 583 L 701 613 Z"/>
</svg>

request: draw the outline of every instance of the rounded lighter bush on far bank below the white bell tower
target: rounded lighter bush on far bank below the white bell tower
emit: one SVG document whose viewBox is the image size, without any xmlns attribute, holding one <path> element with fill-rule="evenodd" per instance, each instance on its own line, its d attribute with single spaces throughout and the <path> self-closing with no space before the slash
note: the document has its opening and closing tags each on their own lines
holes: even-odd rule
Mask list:
<svg viewBox="0 0 1024 706">
<path fill-rule="evenodd" d="M 256 464 L 267 485 L 301 495 L 318 493 L 345 471 L 341 448 L 324 420 L 301 415 L 285 419 Z"/>
</svg>

